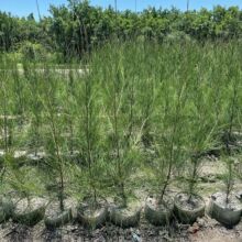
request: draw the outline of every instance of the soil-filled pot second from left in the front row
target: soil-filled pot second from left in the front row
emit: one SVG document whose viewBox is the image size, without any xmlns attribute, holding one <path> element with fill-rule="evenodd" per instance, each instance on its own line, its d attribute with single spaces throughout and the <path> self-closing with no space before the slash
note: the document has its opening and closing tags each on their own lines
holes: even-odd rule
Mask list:
<svg viewBox="0 0 242 242">
<path fill-rule="evenodd" d="M 43 198 L 21 199 L 15 205 L 13 221 L 33 227 L 43 220 L 46 205 L 47 201 Z"/>
</svg>

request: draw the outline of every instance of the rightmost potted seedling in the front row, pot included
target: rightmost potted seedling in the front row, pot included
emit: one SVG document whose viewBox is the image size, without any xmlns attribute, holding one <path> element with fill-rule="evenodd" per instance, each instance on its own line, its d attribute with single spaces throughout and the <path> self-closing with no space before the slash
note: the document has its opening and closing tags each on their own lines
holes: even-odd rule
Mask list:
<svg viewBox="0 0 242 242">
<path fill-rule="evenodd" d="M 231 72 L 233 67 L 231 67 Z M 237 73 L 237 72 L 235 72 Z M 223 146 L 224 152 L 222 160 L 227 164 L 227 174 L 224 174 L 224 193 L 216 193 L 211 196 L 209 205 L 209 213 L 212 218 L 217 219 L 219 222 L 223 223 L 226 227 L 233 227 L 239 223 L 241 219 L 242 207 L 234 196 L 233 183 L 234 183 L 234 161 L 233 146 L 231 145 L 233 136 L 233 128 L 235 127 L 235 121 L 239 114 L 239 79 L 238 76 L 231 76 L 232 80 L 229 87 L 223 87 L 227 94 L 224 100 L 224 118 L 226 118 L 226 135 L 223 135 Z M 229 98 L 229 100 L 227 99 Z M 224 121 L 224 120 L 223 120 Z"/>
</svg>

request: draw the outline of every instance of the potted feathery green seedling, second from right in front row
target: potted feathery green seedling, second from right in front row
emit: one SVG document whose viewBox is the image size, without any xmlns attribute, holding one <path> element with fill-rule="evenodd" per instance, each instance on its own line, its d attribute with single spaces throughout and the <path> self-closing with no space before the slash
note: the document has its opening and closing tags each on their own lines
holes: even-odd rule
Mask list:
<svg viewBox="0 0 242 242">
<path fill-rule="evenodd" d="M 194 223 L 198 217 L 205 215 L 205 200 L 197 194 L 197 186 L 204 154 L 213 146 L 217 131 L 217 121 L 212 119 L 212 109 L 208 102 L 209 87 L 198 80 L 190 80 L 189 106 L 184 123 L 187 130 L 185 145 L 188 156 L 188 163 L 185 163 L 186 189 L 177 194 L 174 199 L 175 215 L 183 223 Z"/>
</svg>

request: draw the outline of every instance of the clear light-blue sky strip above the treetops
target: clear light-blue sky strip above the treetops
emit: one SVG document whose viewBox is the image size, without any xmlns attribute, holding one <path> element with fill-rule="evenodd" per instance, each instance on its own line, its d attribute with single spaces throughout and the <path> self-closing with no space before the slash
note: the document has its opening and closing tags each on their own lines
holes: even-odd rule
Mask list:
<svg viewBox="0 0 242 242">
<path fill-rule="evenodd" d="M 61 6 L 67 4 L 67 0 L 0 0 L 0 11 L 12 13 L 12 15 L 26 16 L 34 13 L 37 19 L 36 1 L 38 1 L 41 15 L 48 15 L 50 4 Z M 135 10 L 135 0 L 117 0 L 119 10 Z M 187 0 L 136 0 L 136 10 L 142 11 L 147 7 L 169 9 L 176 7 L 180 10 L 186 10 Z M 114 6 L 114 0 L 90 0 L 92 6 L 107 8 Z M 190 0 L 189 9 L 199 10 L 205 7 L 212 9 L 213 6 L 239 6 L 242 9 L 242 0 Z"/>
</svg>

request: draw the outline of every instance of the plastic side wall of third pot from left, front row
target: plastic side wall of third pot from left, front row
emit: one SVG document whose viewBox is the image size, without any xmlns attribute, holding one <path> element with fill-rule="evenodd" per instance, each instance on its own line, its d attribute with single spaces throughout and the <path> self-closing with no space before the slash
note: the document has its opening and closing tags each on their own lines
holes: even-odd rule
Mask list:
<svg viewBox="0 0 242 242">
<path fill-rule="evenodd" d="M 72 220 L 73 211 L 72 208 L 69 208 L 64 211 L 52 211 L 51 215 L 45 216 L 44 223 L 47 229 L 53 230 L 67 224 Z"/>
</svg>

